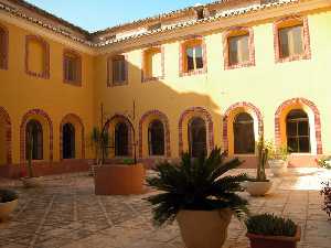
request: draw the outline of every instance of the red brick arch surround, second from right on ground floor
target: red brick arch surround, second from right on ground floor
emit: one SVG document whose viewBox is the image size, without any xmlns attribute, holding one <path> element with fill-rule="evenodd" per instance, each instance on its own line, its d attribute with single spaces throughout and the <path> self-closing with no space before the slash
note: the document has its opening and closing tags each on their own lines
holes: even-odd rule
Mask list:
<svg viewBox="0 0 331 248">
<path fill-rule="evenodd" d="M 235 109 L 237 109 L 237 108 L 244 108 L 245 110 L 253 111 L 255 114 L 255 116 L 257 117 L 257 120 L 258 120 L 258 134 L 260 136 L 264 132 L 264 120 L 263 120 L 263 116 L 261 116 L 259 109 L 255 105 L 253 105 L 248 101 L 236 103 L 236 104 L 229 106 L 227 108 L 227 110 L 225 111 L 224 116 L 223 116 L 223 145 L 224 145 L 224 150 L 228 149 L 227 118 L 228 118 L 229 114 L 232 111 L 234 111 Z"/>
</svg>

